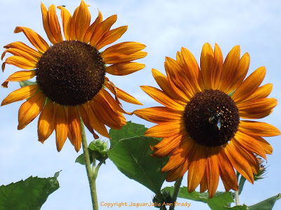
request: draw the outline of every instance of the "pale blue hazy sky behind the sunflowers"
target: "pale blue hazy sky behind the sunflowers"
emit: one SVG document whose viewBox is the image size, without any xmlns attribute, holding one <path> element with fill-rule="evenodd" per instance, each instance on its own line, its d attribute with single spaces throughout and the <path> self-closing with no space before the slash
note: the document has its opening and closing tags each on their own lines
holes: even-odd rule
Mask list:
<svg viewBox="0 0 281 210">
<path fill-rule="evenodd" d="M 0 46 L 13 41 L 22 41 L 30 45 L 23 33 L 13 34 L 16 26 L 30 27 L 48 41 L 41 22 L 40 2 L 35 0 L 0 1 Z M 65 5 L 70 13 L 73 13 L 80 1 L 46 0 L 43 3 L 47 8 L 52 3 L 55 6 Z M 235 45 L 240 45 L 241 55 L 249 52 L 251 57 L 249 73 L 259 66 L 266 66 L 266 78 L 262 85 L 273 83 L 273 92 L 270 97 L 275 97 L 280 101 L 281 3 L 279 0 L 88 0 L 86 3 L 90 5 L 91 22 L 96 19 L 99 9 L 103 13 L 104 19 L 113 14 L 118 15 L 117 22 L 112 28 L 122 25 L 129 26 L 128 31 L 119 42 L 138 41 L 147 45 L 145 50 L 148 52 L 148 56 L 140 61 L 146 64 L 145 69 L 129 76 L 110 76 L 115 85 L 133 94 L 145 104 L 141 107 L 131 106 L 124 102 L 123 105 L 127 111 L 158 106 L 157 102 L 142 92 L 139 85 L 157 87 L 151 69 L 155 68 L 164 73 L 165 56 L 176 58 L 176 52 L 181 50 L 181 47 L 188 48 L 199 62 L 202 45 L 205 42 L 211 43 L 213 47 L 215 43 L 218 43 L 224 58 Z M 58 17 L 60 18 L 59 10 Z M 48 43 L 50 42 L 48 41 Z M 4 49 L 1 50 L 1 52 L 3 51 Z M 19 70 L 15 66 L 6 65 L 5 72 L 0 74 L 1 83 L 11 73 Z M 10 83 L 8 89 L 0 88 L 0 101 L 18 88 L 18 83 Z M 85 167 L 74 163 L 82 150 L 76 153 L 70 141 L 67 140 L 63 150 L 58 153 L 54 134 L 44 144 L 39 143 L 37 141 L 38 118 L 25 129 L 18 131 L 18 109 L 21 104 L 22 102 L 16 102 L 0 108 L 0 186 L 27 179 L 31 175 L 42 178 L 53 176 L 55 172 L 62 170 L 58 177 L 60 188 L 48 197 L 41 209 L 91 209 Z M 146 127 L 152 126 L 151 123 L 146 123 L 136 116 L 126 116 L 126 119 L 132 120 L 134 123 L 145 124 Z M 281 106 L 279 104 L 273 114 L 262 121 L 280 129 L 280 119 Z M 89 132 L 87 132 L 87 137 L 88 142 L 93 140 Z M 271 137 L 267 140 L 273 146 L 273 155 L 268 155 L 267 178 L 255 182 L 254 186 L 247 182 L 240 195 L 241 204 L 255 204 L 281 193 L 280 137 Z M 164 186 L 172 184 L 174 183 L 164 183 Z M 182 185 L 187 185 L 186 175 Z M 99 203 L 150 202 L 153 197 L 150 190 L 126 178 L 110 160 L 107 160 L 106 165 L 100 168 L 97 190 Z M 218 190 L 224 190 L 221 183 Z M 185 202 L 186 200 L 179 201 Z M 209 209 L 207 204 L 188 202 L 191 202 L 189 209 Z M 100 209 L 106 208 L 100 207 Z M 134 208 L 126 207 L 124 209 Z M 276 202 L 275 209 L 281 209 L 281 201 Z"/>
</svg>

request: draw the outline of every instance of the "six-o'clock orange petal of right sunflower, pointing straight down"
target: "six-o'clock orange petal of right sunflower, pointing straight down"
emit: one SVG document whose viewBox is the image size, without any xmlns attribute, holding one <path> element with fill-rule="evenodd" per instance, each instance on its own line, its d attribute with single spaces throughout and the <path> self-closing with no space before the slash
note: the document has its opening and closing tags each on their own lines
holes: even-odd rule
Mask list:
<svg viewBox="0 0 281 210">
<path fill-rule="evenodd" d="M 218 188 L 219 179 L 219 168 L 218 168 L 218 148 L 207 149 L 207 160 L 206 160 L 206 176 L 209 198 L 213 197 Z"/>
</svg>

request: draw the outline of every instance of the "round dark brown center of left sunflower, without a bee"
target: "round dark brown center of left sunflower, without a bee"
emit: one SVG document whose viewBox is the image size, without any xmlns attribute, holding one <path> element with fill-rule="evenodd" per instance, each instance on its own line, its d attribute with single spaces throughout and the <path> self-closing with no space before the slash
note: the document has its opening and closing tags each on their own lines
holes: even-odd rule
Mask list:
<svg viewBox="0 0 281 210">
<path fill-rule="evenodd" d="M 91 100 L 103 87 L 105 63 L 91 45 L 63 41 L 42 55 L 36 75 L 46 97 L 60 105 L 76 106 Z"/>
</svg>

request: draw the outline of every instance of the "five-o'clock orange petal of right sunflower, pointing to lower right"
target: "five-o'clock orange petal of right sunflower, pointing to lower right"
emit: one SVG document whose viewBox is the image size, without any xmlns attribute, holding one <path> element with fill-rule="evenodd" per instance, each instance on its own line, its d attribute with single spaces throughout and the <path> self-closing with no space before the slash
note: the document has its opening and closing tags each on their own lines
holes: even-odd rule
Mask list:
<svg viewBox="0 0 281 210">
<path fill-rule="evenodd" d="M 231 142 L 231 141 L 230 141 Z M 254 183 L 253 172 L 246 159 L 235 149 L 232 144 L 226 144 L 224 148 L 226 156 L 231 162 L 231 165 L 235 167 L 237 172 L 239 172 L 244 178 L 246 178 L 250 183 Z"/>
</svg>

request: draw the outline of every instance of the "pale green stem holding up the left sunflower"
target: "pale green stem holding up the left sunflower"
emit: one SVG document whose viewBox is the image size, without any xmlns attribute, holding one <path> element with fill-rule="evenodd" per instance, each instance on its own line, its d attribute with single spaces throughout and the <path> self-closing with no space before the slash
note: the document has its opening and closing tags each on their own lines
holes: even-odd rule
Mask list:
<svg viewBox="0 0 281 210">
<path fill-rule="evenodd" d="M 92 204 L 93 204 L 93 210 L 98 210 L 98 197 L 96 194 L 96 177 L 94 176 L 95 169 L 96 169 L 96 159 L 93 160 L 93 171 L 91 169 L 91 162 L 90 162 L 90 156 L 89 156 L 89 149 L 85 134 L 85 127 L 82 119 L 81 121 L 81 134 L 82 134 L 82 147 L 83 147 L 83 153 L 85 158 L 85 167 L 86 172 L 89 180 L 89 186 L 91 191 L 91 198 L 92 198 Z"/>
</svg>

